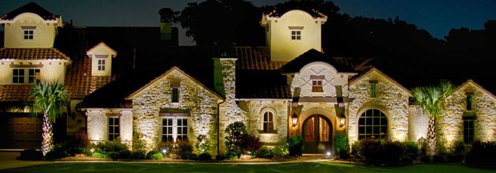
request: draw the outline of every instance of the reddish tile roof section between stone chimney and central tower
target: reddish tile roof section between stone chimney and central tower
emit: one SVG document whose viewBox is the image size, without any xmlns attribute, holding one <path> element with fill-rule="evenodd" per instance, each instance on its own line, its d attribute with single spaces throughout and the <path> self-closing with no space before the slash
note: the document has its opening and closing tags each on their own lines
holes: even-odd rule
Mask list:
<svg viewBox="0 0 496 173">
<path fill-rule="evenodd" d="M 262 46 L 237 46 L 232 56 L 238 58 L 236 68 L 240 70 L 277 70 L 286 63 L 270 61 L 269 49 Z"/>
</svg>

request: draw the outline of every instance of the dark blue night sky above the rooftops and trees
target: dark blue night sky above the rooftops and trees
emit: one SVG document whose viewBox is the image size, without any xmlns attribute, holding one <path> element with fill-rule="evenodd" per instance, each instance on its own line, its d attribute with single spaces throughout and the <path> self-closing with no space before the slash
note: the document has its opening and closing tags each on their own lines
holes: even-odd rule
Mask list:
<svg viewBox="0 0 496 173">
<path fill-rule="evenodd" d="M 30 1 L 38 3 L 63 21 L 75 26 L 159 26 L 158 10 L 182 10 L 188 2 L 204 0 L 0 0 L 0 15 Z M 255 6 L 285 0 L 251 0 Z M 333 0 L 341 13 L 350 16 L 393 18 L 426 29 L 443 39 L 452 28 L 482 29 L 488 19 L 496 20 L 496 0 Z M 261 15 L 261 14 L 260 14 Z M 176 24 L 180 28 L 179 24 Z M 3 30 L 1 28 L 0 30 Z M 180 28 L 180 44 L 192 45 Z"/>
</svg>

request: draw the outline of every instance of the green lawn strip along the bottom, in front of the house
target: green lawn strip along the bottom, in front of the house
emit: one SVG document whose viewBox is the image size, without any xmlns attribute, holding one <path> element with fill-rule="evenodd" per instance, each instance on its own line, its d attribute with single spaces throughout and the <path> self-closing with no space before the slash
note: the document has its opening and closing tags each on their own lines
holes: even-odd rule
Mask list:
<svg viewBox="0 0 496 173">
<path fill-rule="evenodd" d="M 275 165 L 202 163 L 58 163 L 0 170 L 4 173 L 490 173 L 496 170 L 450 164 L 369 167 L 336 163 Z"/>
</svg>

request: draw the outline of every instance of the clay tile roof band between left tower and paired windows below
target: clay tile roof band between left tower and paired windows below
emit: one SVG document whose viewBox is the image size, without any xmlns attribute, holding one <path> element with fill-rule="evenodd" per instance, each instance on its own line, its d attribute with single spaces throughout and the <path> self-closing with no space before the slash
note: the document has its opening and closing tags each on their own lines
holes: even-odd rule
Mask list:
<svg viewBox="0 0 496 173">
<path fill-rule="evenodd" d="M 16 60 L 44 60 L 44 59 L 67 59 L 61 51 L 56 48 L 0 48 L 0 59 Z"/>
</svg>

